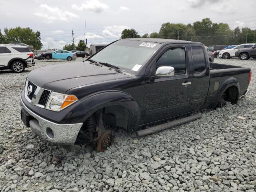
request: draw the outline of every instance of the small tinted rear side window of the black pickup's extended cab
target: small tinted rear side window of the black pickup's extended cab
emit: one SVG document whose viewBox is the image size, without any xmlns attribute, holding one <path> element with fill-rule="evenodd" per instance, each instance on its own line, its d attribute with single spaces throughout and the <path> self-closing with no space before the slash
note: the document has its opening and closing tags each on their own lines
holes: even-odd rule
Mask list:
<svg viewBox="0 0 256 192">
<path fill-rule="evenodd" d="M 195 74 L 203 72 L 205 70 L 206 61 L 202 47 L 192 46 L 192 54 Z"/>
</svg>

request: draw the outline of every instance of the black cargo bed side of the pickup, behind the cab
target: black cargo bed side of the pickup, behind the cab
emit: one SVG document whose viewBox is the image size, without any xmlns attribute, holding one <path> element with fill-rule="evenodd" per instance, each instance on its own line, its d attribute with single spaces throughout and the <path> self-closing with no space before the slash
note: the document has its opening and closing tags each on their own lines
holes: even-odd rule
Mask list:
<svg viewBox="0 0 256 192">
<path fill-rule="evenodd" d="M 210 63 L 210 83 L 209 91 L 204 106 L 212 106 L 219 88 L 225 81 L 238 81 L 239 82 L 239 97 L 244 95 L 248 89 L 248 78 L 250 74 L 250 68 L 232 66 L 225 64 Z"/>
</svg>

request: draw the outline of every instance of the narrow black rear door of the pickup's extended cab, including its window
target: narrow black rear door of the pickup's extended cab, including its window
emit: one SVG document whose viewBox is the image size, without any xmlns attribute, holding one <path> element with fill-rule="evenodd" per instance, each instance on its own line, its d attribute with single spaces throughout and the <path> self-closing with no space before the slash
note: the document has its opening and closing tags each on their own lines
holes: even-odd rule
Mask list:
<svg viewBox="0 0 256 192">
<path fill-rule="evenodd" d="M 193 63 L 193 79 L 192 92 L 190 96 L 191 109 L 198 110 L 204 104 L 210 82 L 210 69 L 208 65 L 207 54 L 202 46 L 191 46 L 192 63 Z"/>
</svg>

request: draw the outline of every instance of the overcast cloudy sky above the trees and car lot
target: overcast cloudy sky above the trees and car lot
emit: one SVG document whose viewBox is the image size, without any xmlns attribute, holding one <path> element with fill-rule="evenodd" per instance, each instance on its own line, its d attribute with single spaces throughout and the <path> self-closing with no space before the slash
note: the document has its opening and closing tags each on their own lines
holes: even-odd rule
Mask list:
<svg viewBox="0 0 256 192">
<path fill-rule="evenodd" d="M 62 48 L 84 39 L 109 43 L 124 28 L 158 32 L 164 22 L 213 22 L 256 28 L 255 0 L 0 0 L 0 28 L 30 27 L 41 32 L 43 48 Z"/>
</svg>

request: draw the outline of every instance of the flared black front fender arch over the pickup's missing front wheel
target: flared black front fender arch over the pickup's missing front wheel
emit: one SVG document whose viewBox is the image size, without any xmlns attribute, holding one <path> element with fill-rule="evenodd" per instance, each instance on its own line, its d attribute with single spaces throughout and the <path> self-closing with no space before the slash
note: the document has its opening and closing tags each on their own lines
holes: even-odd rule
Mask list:
<svg viewBox="0 0 256 192">
<path fill-rule="evenodd" d="M 113 105 L 122 106 L 128 109 L 131 116 L 130 120 L 133 121 L 132 130 L 137 128 L 140 122 L 140 107 L 138 102 L 125 92 L 116 90 L 97 92 L 82 98 L 81 102 L 83 103 L 86 112 L 83 122 L 85 122 L 94 112 Z"/>
</svg>

